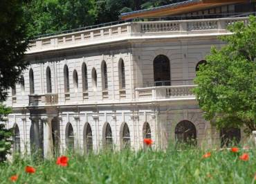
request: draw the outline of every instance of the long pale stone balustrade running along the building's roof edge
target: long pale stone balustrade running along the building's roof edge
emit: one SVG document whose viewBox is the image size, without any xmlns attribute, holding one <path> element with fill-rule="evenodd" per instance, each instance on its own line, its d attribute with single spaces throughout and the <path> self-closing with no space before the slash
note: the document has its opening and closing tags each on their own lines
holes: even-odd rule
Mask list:
<svg viewBox="0 0 256 184">
<path fill-rule="evenodd" d="M 111 42 L 113 39 L 131 39 L 152 35 L 153 33 L 154 36 L 227 33 L 227 26 L 236 21 L 244 21 L 244 24 L 246 24 L 248 17 L 127 22 L 91 30 L 42 37 L 31 42 L 30 49 L 27 53 L 76 45 L 100 44 L 101 42 Z"/>
</svg>

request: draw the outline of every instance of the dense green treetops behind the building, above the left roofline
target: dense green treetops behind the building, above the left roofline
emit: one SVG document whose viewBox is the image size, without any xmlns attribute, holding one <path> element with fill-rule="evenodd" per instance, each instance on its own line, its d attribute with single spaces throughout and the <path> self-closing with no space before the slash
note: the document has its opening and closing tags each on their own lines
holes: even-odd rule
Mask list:
<svg viewBox="0 0 256 184">
<path fill-rule="evenodd" d="M 31 0 L 24 3 L 31 36 L 118 21 L 120 13 L 185 0 Z"/>
</svg>

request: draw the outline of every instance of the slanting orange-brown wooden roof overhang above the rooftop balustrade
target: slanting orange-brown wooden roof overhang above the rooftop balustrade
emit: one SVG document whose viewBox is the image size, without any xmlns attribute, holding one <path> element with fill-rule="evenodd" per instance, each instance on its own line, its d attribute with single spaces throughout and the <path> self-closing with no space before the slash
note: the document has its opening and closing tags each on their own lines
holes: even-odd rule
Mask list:
<svg viewBox="0 0 256 184">
<path fill-rule="evenodd" d="M 167 17 L 170 15 L 181 15 L 183 13 L 205 10 L 217 6 L 223 6 L 235 3 L 246 3 L 248 0 L 189 0 L 180 3 L 172 3 L 167 6 L 138 10 L 134 12 L 122 13 L 122 20 L 142 18 L 142 17 Z"/>
</svg>

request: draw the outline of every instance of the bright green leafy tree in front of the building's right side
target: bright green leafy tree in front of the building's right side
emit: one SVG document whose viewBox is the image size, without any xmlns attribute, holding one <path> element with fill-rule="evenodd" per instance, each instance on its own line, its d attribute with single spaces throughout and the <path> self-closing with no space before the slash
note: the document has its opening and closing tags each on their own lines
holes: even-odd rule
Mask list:
<svg viewBox="0 0 256 184">
<path fill-rule="evenodd" d="M 256 129 L 256 19 L 247 25 L 241 22 L 229 26 L 232 35 L 220 50 L 213 47 L 199 66 L 194 89 L 205 119 L 218 129 L 246 127 Z"/>
</svg>

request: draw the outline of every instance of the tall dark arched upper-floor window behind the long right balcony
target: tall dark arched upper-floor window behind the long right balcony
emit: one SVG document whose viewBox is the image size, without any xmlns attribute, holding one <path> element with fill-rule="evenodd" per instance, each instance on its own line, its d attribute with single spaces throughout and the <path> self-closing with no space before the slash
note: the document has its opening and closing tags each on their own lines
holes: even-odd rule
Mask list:
<svg viewBox="0 0 256 184">
<path fill-rule="evenodd" d="M 158 55 L 154 59 L 155 86 L 170 86 L 170 60 L 165 55 Z"/>
</svg>

